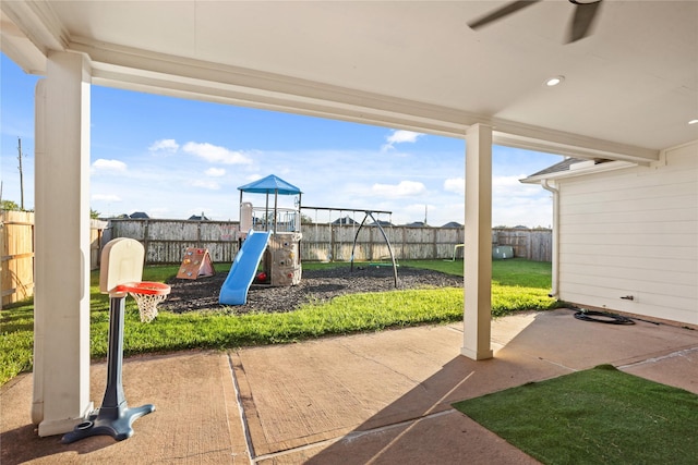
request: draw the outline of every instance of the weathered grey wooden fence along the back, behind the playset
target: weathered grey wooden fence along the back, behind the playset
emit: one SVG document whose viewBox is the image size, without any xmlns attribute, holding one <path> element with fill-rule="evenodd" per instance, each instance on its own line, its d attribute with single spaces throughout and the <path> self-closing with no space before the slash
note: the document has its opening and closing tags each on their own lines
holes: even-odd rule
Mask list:
<svg viewBox="0 0 698 465">
<path fill-rule="evenodd" d="M 462 258 L 462 228 L 383 228 L 398 260 Z M 303 224 L 302 261 L 349 261 L 358 225 Z M 112 219 L 104 243 L 116 237 L 140 241 L 147 264 L 179 264 L 189 247 L 207 248 L 214 262 L 231 262 L 238 253 L 238 222 Z M 494 229 L 494 245 L 510 245 L 516 257 L 551 261 L 550 230 Z M 363 227 L 357 240 L 354 260 L 389 260 L 389 250 L 375 227 Z"/>
</svg>

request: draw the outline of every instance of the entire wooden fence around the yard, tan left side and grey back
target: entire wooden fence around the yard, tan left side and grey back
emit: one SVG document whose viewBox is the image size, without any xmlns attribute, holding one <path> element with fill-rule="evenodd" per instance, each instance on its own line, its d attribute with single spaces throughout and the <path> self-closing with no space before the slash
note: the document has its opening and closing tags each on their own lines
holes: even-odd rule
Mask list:
<svg viewBox="0 0 698 465">
<path fill-rule="evenodd" d="M 57 225 L 60 228 L 60 224 Z M 462 228 L 384 227 L 398 260 L 462 258 Z M 147 264 L 179 264 L 188 247 L 207 248 L 214 262 L 231 262 L 238 253 L 238 222 L 189 220 L 92 220 L 91 269 L 99 267 L 101 246 L 116 237 L 131 237 L 145 246 Z M 303 224 L 302 261 L 349 261 L 358 227 Z M 0 308 L 34 295 L 34 213 L 0 210 Z M 493 245 L 510 245 L 515 257 L 552 259 L 551 230 L 497 228 Z M 388 246 L 376 227 L 363 227 L 354 260 L 389 261 Z"/>
</svg>

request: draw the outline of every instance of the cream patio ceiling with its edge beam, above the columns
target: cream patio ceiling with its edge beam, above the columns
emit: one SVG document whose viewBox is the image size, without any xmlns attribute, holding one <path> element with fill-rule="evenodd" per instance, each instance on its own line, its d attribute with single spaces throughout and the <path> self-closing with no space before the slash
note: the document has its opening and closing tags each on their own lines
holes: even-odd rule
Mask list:
<svg viewBox="0 0 698 465">
<path fill-rule="evenodd" d="M 698 139 L 698 2 L 544 0 L 472 30 L 501 1 L 2 1 L 2 51 L 43 73 L 50 49 L 93 82 L 648 161 Z M 543 82 L 564 75 L 561 86 Z"/>
</svg>

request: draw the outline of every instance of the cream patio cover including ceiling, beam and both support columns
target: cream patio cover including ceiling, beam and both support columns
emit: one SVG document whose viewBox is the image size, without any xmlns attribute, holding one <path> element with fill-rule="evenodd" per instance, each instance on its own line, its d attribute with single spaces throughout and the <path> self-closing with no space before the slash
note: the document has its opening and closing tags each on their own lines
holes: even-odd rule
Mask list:
<svg viewBox="0 0 698 465">
<path fill-rule="evenodd" d="M 604 1 L 573 42 L 570 2 L 468 26 L 505 3 L 3 1 L 2 51 L 46 76 L 35 136 L 39 436 L 93 408 L 92 85 L 465 138 L 464 331 L 448 351 L 491 358 L 492 144 L 650 166 L 698 138 L 697 3 Z M 554 76 L 561 84 L 546 85 Z"/>
</svg>

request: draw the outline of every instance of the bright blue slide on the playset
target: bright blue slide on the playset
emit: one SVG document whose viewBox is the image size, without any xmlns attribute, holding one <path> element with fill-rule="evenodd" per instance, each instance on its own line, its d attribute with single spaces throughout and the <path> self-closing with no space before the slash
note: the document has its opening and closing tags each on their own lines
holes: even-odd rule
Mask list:
<svg viewBox="0 0 698 465">
<path fill-rule="evenodd" d="M 218 302 L 225 305 L 244 305 L 248 302 L 248 291 L 264 255 L 270 232 L 250 231 L 242 243 L 230 272 L 220 287 Z"/>
</svg>

